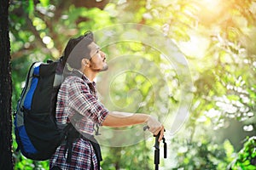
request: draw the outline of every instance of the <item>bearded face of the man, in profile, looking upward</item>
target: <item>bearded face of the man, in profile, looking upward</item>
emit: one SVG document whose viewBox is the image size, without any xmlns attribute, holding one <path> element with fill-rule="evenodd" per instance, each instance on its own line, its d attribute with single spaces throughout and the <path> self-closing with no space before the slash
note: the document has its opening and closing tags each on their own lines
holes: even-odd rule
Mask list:
<svg viewBox="0 0 256 170">
<path fill-rule="evenodd" d="M 100 47 L 95 43 L 91 42 L 90 48 L 90 68 L 92 71 L 107 71 L 108 64 L 106 62 L 106 54 L 103 53 Z"/>
</svg>

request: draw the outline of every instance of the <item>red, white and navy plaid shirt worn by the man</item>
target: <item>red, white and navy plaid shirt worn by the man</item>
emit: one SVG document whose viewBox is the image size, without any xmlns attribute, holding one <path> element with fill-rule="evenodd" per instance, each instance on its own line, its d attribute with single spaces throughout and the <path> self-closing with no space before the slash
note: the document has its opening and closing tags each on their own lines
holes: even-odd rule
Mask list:
<svg viewBox="0 0 256 170">
<path fill-rule="evenodd" d="M 61 84 L 56 105 L 57 123 L 72 122 L 80 133 L 93 135 L 94 125 L 102 125 L 107 115 L 108 110 L 96 97 L 95 82 L 90 82 L 81 74 L 81 78 L 70 76 Z M 88 140 L 75 140 L 71 163 L 67 163 L 67 152 L 64 156 L 64 149 L 65 144 L 57 148 L 49 160 L 50 168 L 56 166 L 62 170 L 90 169 L 91 164 L 94 169 L 97 168 L 96 154 Z"/>
</svg>

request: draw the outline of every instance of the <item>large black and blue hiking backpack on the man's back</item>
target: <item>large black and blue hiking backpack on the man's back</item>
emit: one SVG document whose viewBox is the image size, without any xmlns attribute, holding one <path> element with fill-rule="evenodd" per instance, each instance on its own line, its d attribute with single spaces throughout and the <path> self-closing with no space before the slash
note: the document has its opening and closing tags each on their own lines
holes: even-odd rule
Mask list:
<svg viewBox="0 0 256 170">
<path fill-rule="evenodd" d="M 55 122 L 57 93 L 63 73 L 62 58 L 31 65 L 26 85 L 15 112 L 15 138 L 23 156 L 44 161 L 55 153 L 63 140 Z"/>
</svg>

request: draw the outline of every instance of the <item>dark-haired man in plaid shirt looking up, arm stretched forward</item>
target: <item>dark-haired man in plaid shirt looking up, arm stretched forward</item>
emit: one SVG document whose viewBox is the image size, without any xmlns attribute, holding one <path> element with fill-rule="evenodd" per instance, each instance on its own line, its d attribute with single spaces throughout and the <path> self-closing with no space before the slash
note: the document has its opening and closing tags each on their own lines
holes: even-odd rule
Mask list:
<svg viewBox="0 0 256 170">
<path fill-rule="evenodd" d="M 57 97 L 56 121 L 59 125 L 72 122 L 81 135 L 75 136 L 71 131 L 75 139 L 71 140 L 68 149 L 66 143 L 57 148 L 49 161 L 50 169 L 100 169 L 101 150 L 92 136 L 95 125 L 127 127 L 146 123 L 149 131 L 160 133 L 162 139 L 164 127 L 153 116 L 108 111 L 98 101 L 93 80 L 100 71 L 108 70 L 108 64 L 106 54 L 94 42 L 92 32 L 69 40 L 63 59 L 67 62 L 66 77 Z"/>
</svg>

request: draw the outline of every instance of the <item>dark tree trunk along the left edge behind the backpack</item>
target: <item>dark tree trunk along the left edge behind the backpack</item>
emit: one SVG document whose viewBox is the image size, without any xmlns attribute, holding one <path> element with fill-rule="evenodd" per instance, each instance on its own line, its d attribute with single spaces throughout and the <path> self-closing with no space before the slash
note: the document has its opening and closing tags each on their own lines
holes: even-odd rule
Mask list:
<svg viewBox="0 0 256 170">
<path fill-rule="evenodd" d="M 0 0 L 0 169 L 13 169 L 9 0 Z"/>
</svg>

